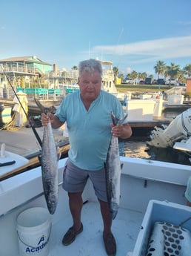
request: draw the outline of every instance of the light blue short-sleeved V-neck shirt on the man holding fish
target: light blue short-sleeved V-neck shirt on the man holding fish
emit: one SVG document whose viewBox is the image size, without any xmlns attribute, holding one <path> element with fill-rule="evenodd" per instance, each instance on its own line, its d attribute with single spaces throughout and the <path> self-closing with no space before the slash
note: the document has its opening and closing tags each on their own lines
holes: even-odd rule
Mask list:
<svg viewBox="0 0 191 256">
<path fill-rule="evenodd" d="M 106 91 L 101 91 L 88 111 L 81 100 L 80 91 L 70 93 L 62 100 L 56 116 L 61 122 L 67 122 L 70 142 L 68 157 L 78 168 L 96 171 L 104 167 L 111 138 L 110 111 L 117 118 L 124 116 L 119 100 Z"/>
</svg>

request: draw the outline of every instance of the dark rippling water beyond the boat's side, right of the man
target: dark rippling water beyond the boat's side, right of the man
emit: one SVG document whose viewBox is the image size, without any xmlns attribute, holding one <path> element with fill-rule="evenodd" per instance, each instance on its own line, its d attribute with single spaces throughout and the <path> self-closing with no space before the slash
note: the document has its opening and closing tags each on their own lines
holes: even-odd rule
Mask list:
<svg viewBox="0 0 191 256">
<path fill-rule="evenodd" d="M 125 140 L 119 142 L 119 154 L 123 157 L 135 157 L 148 160 L 158 160 L 168 163 L 191 165 L 191 155 L 174 148 L 155 148 L 147 146 L 147 140 Z"/>
</svg>

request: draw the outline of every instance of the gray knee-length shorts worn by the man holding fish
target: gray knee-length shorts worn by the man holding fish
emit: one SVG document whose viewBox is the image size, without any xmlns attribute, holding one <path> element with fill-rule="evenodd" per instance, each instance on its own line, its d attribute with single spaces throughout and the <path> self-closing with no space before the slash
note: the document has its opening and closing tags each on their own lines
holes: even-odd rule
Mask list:
<svg viewBox="0 0 191 256">
<path fill-rule="evenodd" d="M 107 202 L 107 191 L 105 181 L 105 169 L 99 171 L 86 171 L 78 168 L 76 165 L 67 160 L 63 173 L 63 188 L 67 192 L 76 193 L 84 191 L 87 180 L 90 177 L 93 183 L 96 197 Z"/>
</svg>

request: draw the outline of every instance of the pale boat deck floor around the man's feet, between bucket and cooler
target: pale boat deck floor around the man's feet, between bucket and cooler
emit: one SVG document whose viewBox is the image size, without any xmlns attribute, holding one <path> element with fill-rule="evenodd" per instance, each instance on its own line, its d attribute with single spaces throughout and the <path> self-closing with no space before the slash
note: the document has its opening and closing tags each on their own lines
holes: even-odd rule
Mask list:
<svg viewBox="0 0 191 256">
<path fill-rule="evenodd" d="M 113 220 L 113 235 L 117 243 L 116 256 L 127 256 L 132 252 L 143 220 L 142 213 L 119 209 Z M 50 234 L 50 253 L 48 256 L 106 256 L 102 238 L 102 219 L 98 203 L 87 202 L 83 206 L 81 221 L 84 230 L 69 246 L 63 246 L 62 237 L 72 226 L 70 215 L 53 225 Z M 123 228 L 124 227 L 124 228 Z M 121 232 L 122 231 L 122 232 Z"/>
</svg>

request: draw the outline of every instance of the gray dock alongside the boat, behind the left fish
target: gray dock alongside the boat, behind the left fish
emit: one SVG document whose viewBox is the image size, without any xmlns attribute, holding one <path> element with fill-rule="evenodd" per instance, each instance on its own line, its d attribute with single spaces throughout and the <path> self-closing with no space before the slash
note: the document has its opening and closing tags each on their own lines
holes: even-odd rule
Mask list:
<svg viewBox="0 0 191 256">
<path fill-rule="evenodd" d="M 36 131 L 42 140 L 44 127 L 36 128 Z M 17 168 L 7 174 L 1 175 L 0 172 L 0 181 L 40 165 L 39 156 L 41 155 L 41 146 L 38 144 L 32 128 L 21 127 L 10 130 L 1 130 L 0 132 L 0 146 L 4 143 L 6 151 L 19 154 L 29 160 L 27 165 Z M 61 154 L 61 157 L 67 156 L 70 145 L 68 138 L 63 137 L 63 130 L 54 129 L 53 135 L 56 141 L 56 146 L 58 147 L 58 153 Z"/>
</svg>

